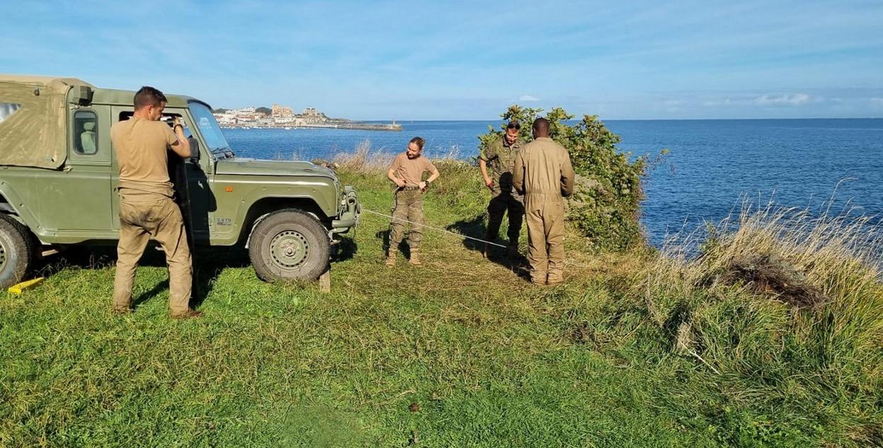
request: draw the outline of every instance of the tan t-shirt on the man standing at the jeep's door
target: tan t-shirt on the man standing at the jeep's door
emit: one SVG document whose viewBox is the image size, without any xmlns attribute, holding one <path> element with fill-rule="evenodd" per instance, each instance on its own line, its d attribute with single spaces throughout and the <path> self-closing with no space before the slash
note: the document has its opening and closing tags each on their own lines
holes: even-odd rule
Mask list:
<svg viewBox="0 0 883 448">
<path fill-rule="evenodd" d="M 168 124 L 132 116 L 110 128 L 110 140 L 117 152 L 120 188 L 171 197 L 169 146 L 177 137 Z"/>
</svg>

